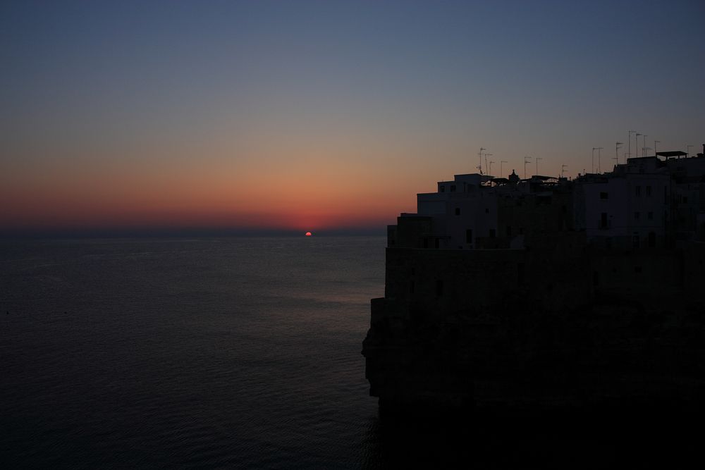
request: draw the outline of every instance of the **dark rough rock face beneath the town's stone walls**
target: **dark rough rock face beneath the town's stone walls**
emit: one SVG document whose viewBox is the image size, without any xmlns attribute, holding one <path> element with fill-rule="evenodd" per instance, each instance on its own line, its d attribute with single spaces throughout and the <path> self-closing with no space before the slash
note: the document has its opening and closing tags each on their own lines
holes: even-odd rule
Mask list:
<svg viewBox="0 0 705 470">
<path fill-rule="evenodd" d="M 381 409 L 417 412 L 611 404 L 702 409 L 700 294 L 600 289 L 568 304 L 527 302 L 520 292 L 456 310 L 373 299 L 362 350 L 370 394 Z"/>
</svg>

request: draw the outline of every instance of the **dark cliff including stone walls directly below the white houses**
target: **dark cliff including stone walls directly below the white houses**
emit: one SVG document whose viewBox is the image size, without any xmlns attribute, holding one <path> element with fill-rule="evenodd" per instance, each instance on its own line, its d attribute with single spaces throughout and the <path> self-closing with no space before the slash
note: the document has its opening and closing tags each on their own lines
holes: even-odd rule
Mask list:
<svg viewBox="0 0 705 470">
<path fill-rule="evenodd" d="M 362 354 L 381 410 L 702 410 L 701 245 L 387 249 Z M 576 246 L 580 246 L 580 243 Z"/>
</svg>

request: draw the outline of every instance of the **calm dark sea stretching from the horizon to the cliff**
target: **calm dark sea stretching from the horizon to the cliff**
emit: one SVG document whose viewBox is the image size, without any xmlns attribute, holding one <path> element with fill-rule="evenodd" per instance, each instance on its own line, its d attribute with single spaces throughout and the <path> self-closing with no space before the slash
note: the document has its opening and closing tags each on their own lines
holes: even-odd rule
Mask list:
<svg viewBox="0 0 705 470">
<path fill-rule="evenodd" d="M 2 459 L 381 464 L 384 237 L 1 242 Z"/>
</svg>

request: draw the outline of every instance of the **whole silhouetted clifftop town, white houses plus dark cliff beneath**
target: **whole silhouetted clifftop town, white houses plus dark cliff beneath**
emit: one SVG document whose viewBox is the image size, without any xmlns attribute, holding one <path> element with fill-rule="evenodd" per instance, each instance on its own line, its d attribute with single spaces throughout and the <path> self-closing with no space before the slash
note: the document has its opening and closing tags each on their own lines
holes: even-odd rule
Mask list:
<svg viewBox="0 0 705 470">
<path fill-rule="evenodd" d="M 455 175 L 388 227 L 370 394 L 386 409 L 702 407 L 704 280 L 704 154 L 573 180 Z"/>
</svg>

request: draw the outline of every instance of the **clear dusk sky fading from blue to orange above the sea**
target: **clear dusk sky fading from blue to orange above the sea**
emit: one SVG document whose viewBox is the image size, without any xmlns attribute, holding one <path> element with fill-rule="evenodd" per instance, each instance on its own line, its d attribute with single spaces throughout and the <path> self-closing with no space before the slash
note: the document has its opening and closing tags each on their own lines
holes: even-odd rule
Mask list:
<svg viewBox="0 0 705 470">
<path fill-rule="evenodd" d="M 529 156 L 570 177 L 594 147 L 603 171 L 615 142 L 623 160 L 628 130 L 702 151 L 704 18 L 699 0 L 3 1 L 0 234 L 384 233 L 480 147 L 494 175 Z"/>
</svg>

